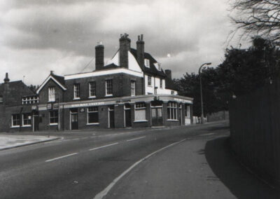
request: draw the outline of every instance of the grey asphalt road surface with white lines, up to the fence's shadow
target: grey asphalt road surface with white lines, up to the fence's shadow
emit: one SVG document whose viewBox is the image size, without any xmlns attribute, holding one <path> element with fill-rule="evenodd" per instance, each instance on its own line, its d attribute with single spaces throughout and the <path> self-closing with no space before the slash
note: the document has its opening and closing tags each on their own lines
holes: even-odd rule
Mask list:
<svg viewBox="0 0 280 199">
<path fill-rule="evenodd" d="M 228 123 L 64 133 L 0 151 L 0 198 L 277 198 L 231 156 L 228 135 Z"/>
</svg>

